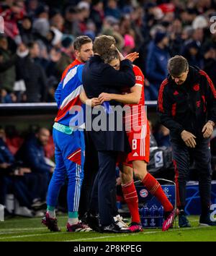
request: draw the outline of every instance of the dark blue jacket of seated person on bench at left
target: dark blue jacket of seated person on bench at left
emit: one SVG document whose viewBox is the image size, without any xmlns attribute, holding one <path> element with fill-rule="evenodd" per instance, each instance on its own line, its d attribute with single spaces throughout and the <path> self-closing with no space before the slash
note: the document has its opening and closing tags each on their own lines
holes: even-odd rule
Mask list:
<svg viewBox="0 0 216 256">
<path fill-rule="evenodd" d="M 24 166 L 37 173 L 49 173 L 51 166 L 45 163 L 45 152 L 36 137 L 31 137 L 24 142 L 16 155 L 17 160 L 22 161 Z"/>
</svg>

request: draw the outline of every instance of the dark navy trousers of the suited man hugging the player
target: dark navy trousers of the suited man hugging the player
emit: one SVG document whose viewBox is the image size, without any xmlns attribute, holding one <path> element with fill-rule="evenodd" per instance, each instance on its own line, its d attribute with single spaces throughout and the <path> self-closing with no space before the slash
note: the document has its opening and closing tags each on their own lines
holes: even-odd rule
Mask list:
<svg viewBox="0 0 216 256">
<path fill-rule="evenodd" d="M 113 205 L 116 205 L 116 161 L 117 152 L 99 151 L 99 172 L 94 180 L 91 193 L 91 213 L 99 212 L 102 226 L 110 225 L 113 220 Z"/>
</svg>

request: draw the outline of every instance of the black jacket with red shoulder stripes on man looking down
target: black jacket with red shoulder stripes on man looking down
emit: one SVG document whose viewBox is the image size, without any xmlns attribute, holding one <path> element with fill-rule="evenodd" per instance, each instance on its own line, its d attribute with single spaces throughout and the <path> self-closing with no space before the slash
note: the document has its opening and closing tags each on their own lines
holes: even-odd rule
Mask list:
<svg viewBox="0 0 216 256">
<path fill-rule="evenodd" d="M 168 76 L 159 90 L 158 114 L 161 124 L 170 129 L 171 139 L 181 139 L 185 129 L 201 140 L 207 120 L 216 121 L 216 90 L 210 77 L 197 67 L 189 67 L 182 85 Z"/>
</svg>

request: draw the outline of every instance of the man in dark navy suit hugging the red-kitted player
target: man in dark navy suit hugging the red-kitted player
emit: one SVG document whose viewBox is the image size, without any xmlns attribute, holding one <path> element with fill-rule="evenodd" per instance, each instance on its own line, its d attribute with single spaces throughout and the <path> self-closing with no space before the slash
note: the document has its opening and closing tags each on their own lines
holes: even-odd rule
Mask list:
<svg viewBox="0 0 216 256">
<path fill-rule="evenodd" d="M 121 93 L 121 89 L 125 86 L 132 87 L 135 85 L 135 75 L 132 72 L 132 63 L 120 54 L 120 71 L 113 69 L 109 64 L 104 64 L 100 55 L 109 48 L 114 46 L 114 38 L 101 35 L 94 40 L 93 51 L 94 56 L 84 66 L 82 79 L 84 90 L 88 98 L 97 98 L 101 93 Z M 118 106 L 120 103 L 111 101 L 110 105 Z M 128 229 L 120 229 L 114 224 L 113 220 L 113 194 L 115 192 L 115 169 L 117 155 L 120 152 L 130 152 L 130 145 L 127 140 L 125 128 L 117 129 L 117 111 L 112 111 L 110 106 L 100 108 L 101 114 L 107 121 L 103 124 L 101 120 L 98 127 L 95 127 L 96 121 L 99 120 L 99 114 L 91 112 L 91 137 L 94 141 L 99 158 L 99 172 L 94 182 L 92 191 L 98 192 L 98 197 L 94 195 L 91 198 L 91 213 L 99 211 L 100 231 L 102 232 L 125 232 Z M 107 109 L 107 110 L 106 110 Z M 113 112 L 113 113 L 112 113 Z M 110 121 L 109 114 L 114 119 Z M 86 129 L 89 129 L 88 114 L 86 120 Z M 119 121 L 119 119 L 118 119 Z M 110 123 L 111 122 L 111 123 Z M 98 129 L 103 126 L 105 129 Z M 112 130 L 109 127 L 112 126 Z M 98 200 L 98 201 L 97 201 Z M 90 224 L 90 223 L 89 223 Z"/>
</svg>

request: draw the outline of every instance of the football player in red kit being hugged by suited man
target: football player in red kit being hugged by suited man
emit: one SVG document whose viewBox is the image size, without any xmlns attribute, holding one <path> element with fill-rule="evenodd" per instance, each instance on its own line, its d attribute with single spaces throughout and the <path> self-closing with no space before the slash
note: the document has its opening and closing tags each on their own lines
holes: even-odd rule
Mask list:
<svg viewBox="0 0 216 256">
<path fill-rule="evenodd" d="M 117 49 L 112 49 L 101 57 L 104 62 L 110 64 L 114 69 L 120 69 L 120 53 Z M 129 58 L 134 60 L 136 57 L 135 54 L 131 54 Z M 122 94 L 102 93 L 99 95 L 99 101 L 103 103 L 104 101 L 114 100 L 125 104 L 125 129 L 132 152 L 123 160 L 121 178 L 123 195 L 132 217 L 130 230 L 132 232 L 143 231 L 138 210 L 138 195 L 133 182 L 134 172 L 135 176 L 140 179 L 148 191 L 163 205 L 165 221 L 163 222 L 162 230 L 166 231 L 174 222 L 176 211 L 163 192 L 161 185 L 147 171 L 150 132 L 145 114 L 144 75 L 140 68 L 135 65 L 133 66 L 133 71 L 135 72 L 136 82 L 132 88 L 125 89 Z"/>
</svg>

